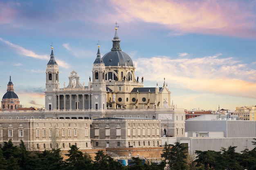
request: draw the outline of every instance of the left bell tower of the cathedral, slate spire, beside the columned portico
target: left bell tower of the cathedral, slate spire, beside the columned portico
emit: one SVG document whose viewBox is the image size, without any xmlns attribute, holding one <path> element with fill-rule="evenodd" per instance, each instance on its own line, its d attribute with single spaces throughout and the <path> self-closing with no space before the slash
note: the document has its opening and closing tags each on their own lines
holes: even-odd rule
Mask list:
<svg viewBox="0 0 256 170">
<path fill-rule="evenodd" d="M 50 55 L 50 60 L 46 66 L 46 83 L 45 83 L 45 109 L 55 110 L 57 109 L 57 99 L 55 92 L 59 87 L 59 69 L 58 64 L 55 61 L 53 47 Z"/>
</svg>

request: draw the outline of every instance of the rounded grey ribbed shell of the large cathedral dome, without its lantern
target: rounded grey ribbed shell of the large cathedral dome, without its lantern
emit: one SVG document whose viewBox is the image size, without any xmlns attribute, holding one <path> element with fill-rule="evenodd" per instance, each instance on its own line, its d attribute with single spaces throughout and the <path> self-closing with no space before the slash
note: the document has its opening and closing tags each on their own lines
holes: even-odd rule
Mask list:
<svg viewBox="0 0 256 170">
<path fill-rule="evenodd" d="M 131 57 L 121 50 L 113 50 L 106 53 L 102 60 L 105 66 L 133 66 Z"/>
</svg>

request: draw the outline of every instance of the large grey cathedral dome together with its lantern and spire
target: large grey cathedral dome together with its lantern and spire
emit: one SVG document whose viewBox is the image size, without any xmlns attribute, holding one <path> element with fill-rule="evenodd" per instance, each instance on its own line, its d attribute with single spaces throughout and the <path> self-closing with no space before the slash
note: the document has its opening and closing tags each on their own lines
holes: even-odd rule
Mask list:
<svg viewBox="0 0 256 170">
<path fill-rule="evenodd" d="M 131 57 L 122 51 L 120 47 L 120 39 L 117 35 L 117 28 L 115 32 L 115 37 L 112 40 L 113 47 L 110 52 L 106 53 L 102 60 L 105 66 L 133 66 Z"/>
</svg>

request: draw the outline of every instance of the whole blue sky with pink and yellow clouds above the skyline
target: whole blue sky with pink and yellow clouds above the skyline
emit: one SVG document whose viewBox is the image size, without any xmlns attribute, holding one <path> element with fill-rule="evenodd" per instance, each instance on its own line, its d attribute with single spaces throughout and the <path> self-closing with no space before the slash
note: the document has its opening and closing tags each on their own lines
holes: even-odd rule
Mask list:
<svg viewBox="0 0 256 170">
<path fill-rule="evenodd" d="M 51 45 L 61 87 L 73 70 L 87 86 L 116 22 L 135 77 L 165 78 L 177 108 L 256 105 L 256 0 L 0 0 L 0 95 L 11 74 L 20 104 L 44 107 Z"/>
</svg>

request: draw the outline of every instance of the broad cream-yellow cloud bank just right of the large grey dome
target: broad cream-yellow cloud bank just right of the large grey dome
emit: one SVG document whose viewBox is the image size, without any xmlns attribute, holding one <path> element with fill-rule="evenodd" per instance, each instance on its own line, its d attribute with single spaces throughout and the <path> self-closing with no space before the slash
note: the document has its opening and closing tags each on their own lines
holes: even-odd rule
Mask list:
<svg viewBox="0 0 256 170">
<path fill-rule="evenodd" d="M 136 74 L 144 76 L 144 82 L 155 82 L 156 79 L 163 82 L 165 77 L 169 88 L 240 97 L 256 96 L 256 70 L 232 57 L 220 58 L 217 54 L 172 60 L 167 56 L 157 56 L 139 58 L 134 62 Z"/>
</svg>

